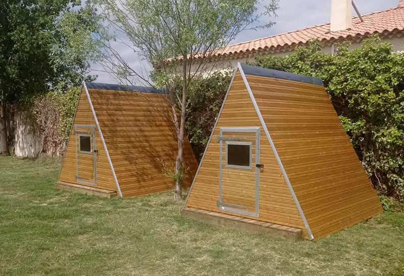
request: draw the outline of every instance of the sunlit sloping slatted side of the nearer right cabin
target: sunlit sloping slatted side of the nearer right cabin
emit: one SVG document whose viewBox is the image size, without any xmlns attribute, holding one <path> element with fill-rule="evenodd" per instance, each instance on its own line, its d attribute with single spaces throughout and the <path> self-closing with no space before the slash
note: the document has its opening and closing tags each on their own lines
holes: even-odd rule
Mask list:
<svg viewBox="0 0 404 276">
<path fill-rule="evenodd" d="M 246 78 L 315 239 L 382 212 L 324 87 Z"/>
</svg>

